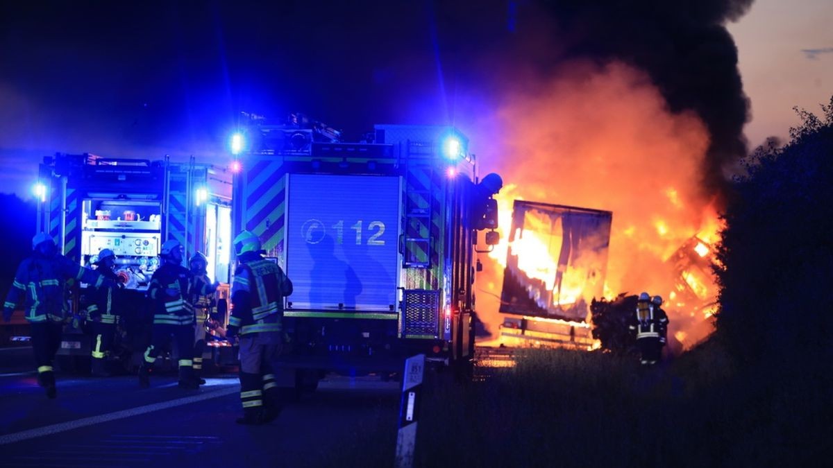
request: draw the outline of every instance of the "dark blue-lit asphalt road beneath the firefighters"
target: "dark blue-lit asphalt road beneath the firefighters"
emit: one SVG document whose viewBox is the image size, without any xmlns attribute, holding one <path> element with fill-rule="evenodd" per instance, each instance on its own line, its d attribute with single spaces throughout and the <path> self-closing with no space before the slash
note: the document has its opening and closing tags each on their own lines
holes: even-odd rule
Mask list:
<svg viewBox="0 0 833 468">
<path fill-rule="evenodd" d="M 342 460 L 356 431 L 387 426 L 396 444 L 400 384 L 376 376 L 327 376 L 276 421 L 240 426 L 234 375 L 187 391 L 173 375 L 141 389 L 136 376 L 59 373 L 48 400 L 10 354 L 0 356 L 0 467 L 365 466 Z"/>
</svg>

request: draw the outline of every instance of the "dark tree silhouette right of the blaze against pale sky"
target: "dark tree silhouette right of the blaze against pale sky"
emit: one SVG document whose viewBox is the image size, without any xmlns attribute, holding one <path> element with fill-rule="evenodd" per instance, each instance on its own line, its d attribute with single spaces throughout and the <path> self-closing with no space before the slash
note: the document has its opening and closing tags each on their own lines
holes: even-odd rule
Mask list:
<svg viewBox="0 0 833 468">
<path fill-rule="evenodd" d="M 749 363 L 831 359 L 833 97 L 821 108 L 746 160 L 724 214 L 718 334 Z"/>
</svg>

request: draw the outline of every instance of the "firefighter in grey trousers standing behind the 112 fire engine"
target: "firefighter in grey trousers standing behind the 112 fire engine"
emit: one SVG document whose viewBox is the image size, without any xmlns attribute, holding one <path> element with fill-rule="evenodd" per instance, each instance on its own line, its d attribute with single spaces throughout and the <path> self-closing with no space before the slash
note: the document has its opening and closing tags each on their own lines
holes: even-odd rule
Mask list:
<svg viewBox="0 0 833 468">
<path fill-rule="evenodd" d="M 272 421 L 282 408 L 274 363 L 283 348 L 283 297 L 292 281 L 280 266 L 262 257 L 260 240 L 243 231 L 234 239 L 239 262 L 232 282 L 232 316 L 226 336 L 240 336 L 240 400 L 238 424 Z"/>
</svg>

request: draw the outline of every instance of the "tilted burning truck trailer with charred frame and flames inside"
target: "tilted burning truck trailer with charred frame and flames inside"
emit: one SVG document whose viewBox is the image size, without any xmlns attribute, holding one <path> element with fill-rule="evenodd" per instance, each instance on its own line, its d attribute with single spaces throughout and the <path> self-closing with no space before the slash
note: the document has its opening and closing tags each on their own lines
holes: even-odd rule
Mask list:
<svg viewBox="0 0 833 468">
<path fill-rule="evenodd" d="M 514 202 L 501 345 L 591 349 L 590 305 L 604 293 L 612 218 L 602 210 Z"/>
</svg>

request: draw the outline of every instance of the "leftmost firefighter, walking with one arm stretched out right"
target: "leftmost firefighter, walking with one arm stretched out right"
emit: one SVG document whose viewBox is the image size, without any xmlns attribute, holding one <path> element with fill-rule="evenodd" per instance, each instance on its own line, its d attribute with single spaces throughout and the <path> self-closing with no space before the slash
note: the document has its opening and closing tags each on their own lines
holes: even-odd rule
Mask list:
<svg viewBox="0 0 833 468">
<path fill-rule="evenodd" d="M 23 302 L 26 320 L 31 326 L 32 349 L 37 365 L 37 384 L 46 389 L 48 398 L 57 396 L 52 361 L 67 317 L 67 281 L 83 281 L 96 288 L 115 286 L 101 273 L 77 265 L 57 251 L 55 241 L 41 232 L 32 238 L 32 256 L 17 267 L 14 282 L 3 304 L 4 321 L 12 318 L 12 311 Z"/>
</svg>

